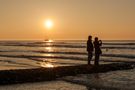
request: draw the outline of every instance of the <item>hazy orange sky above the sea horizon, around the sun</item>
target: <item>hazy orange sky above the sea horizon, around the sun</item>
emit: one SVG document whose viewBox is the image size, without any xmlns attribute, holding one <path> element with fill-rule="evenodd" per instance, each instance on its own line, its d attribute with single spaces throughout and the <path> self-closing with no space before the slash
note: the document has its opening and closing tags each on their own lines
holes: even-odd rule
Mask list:
<svg viewBox="0 0 135 90">
<path fill-rule="evenodd" d="M 51 19 L 51 30 L 44 21 Z M 135 40 L 135 0 L 0 0 L 0 39 Z"/>
</svg>

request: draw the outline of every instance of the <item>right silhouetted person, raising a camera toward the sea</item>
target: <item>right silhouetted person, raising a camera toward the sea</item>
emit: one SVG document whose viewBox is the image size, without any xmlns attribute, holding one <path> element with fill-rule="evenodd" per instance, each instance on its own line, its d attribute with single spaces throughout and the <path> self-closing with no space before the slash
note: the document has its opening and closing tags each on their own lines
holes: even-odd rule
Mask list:
<svg viewBox="0 0 135 90">
<path fill-rule="evenodd" d="M 102 54 L 101 46 L 102 46 L 102 41 L 101 40 L 98 40 L 98 37 L 95 37 L 95 41 L 94 41 L 95 62 L 94 62 L 94 64 L 96 66 L 99 65 L 99 57 Z"/>
</svg>

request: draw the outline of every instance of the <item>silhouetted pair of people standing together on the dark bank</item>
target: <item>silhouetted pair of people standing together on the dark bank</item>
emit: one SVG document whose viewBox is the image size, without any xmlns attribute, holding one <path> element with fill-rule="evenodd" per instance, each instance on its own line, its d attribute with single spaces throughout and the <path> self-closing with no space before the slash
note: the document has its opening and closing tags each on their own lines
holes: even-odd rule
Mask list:
<svg viewBox="0 0 135 90">
<path fill-rule="evenodd" d="M 88 65 L 91 64 L 94 50 L 95 50 L 94 65 L 96 66 L 99 65 L 99 57 L 102 54 L 101 46 L 102 46 L 102 41 L 98 40 L 98 37 L 95 37 L 94 42 L 92 42 L 92 36 L 88 37 L 88 41 L 87 41 Z"/>
</svg>

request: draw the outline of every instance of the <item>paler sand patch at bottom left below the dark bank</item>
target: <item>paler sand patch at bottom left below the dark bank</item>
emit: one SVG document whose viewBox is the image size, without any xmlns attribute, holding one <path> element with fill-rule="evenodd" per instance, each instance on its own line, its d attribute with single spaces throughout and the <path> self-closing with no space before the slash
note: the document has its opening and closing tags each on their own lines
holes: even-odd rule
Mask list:
<svg viewBox="0 0 135 90">
<path fill-rule="evenodd" d="M 65 81 L 46 81 L 0 86 L 0 90 L 87 90 L 83 85 Z"/>
</svg>

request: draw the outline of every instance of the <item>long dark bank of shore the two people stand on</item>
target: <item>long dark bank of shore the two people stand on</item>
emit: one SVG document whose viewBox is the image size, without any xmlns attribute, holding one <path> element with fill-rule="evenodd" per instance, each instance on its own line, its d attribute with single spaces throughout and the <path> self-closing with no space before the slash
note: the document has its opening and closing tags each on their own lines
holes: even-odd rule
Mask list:
<svg viewBox="0 0 135 90">
<path fill-rule="evenodd" d="M 133 66 L 135 66 L 135 63 L 113 63 L 102 64 L 98 67 L 93 65 L 78 65 L 53 68 L 2 70 L 0 71 L 0 85 L 50 81 L 63 76 L 133 69 Z"/>
</svg>

